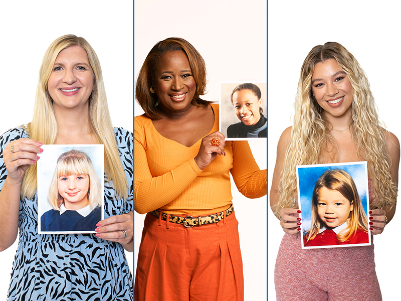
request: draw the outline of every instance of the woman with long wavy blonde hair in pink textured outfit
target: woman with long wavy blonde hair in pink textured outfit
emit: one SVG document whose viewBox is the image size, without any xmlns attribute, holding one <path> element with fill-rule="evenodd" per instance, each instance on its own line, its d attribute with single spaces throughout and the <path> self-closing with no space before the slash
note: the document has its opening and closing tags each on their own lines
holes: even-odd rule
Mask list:
<svg viewBox="0 0 401 301">
<path fill-rule="evenodd" d="M 270 205 L 285 232 L 275 267 L 278 300 L 361 295 L 381 300 L 373 245 L 301 249 L 295 166 L 357 161 L 367 161 L 369 228 L 380 234 L 395 213 L 399 142 L 381 126 L 356 59 L 342 45 L 328 42 L 315 46 L 302 65 L 293 126 L 284 130 L 277 146 Z M 364 281 L 355 281 L 358 276 Z"/>
</svg>

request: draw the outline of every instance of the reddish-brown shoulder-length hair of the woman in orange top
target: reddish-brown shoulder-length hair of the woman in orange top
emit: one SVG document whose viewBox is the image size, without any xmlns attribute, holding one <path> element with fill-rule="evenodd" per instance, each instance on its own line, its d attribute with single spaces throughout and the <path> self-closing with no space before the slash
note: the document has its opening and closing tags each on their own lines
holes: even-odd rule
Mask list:
<svg viewBox="0 0 401 301">
<path fill-rule="evenodd" d="M 186 54 L 193 79 L 196 82 L 196 91 L 192 99 L 195 106 L 206 106 L 210 101 L 200 99 L 200 95 L 206 93 L 206 64 L 203 57 L 187 41 L 181 38 L 167 38 L 158 42 L 150 50 L 143 62 L 136 81 L 135 99 L 151 119 L 160 119 L 157 113 L 159 100 L 155 93 L 150 92 L 150 87 L 154 82 L 154 72 L 163 54 L 170 51 L 182 51 Z"/>
</svg>

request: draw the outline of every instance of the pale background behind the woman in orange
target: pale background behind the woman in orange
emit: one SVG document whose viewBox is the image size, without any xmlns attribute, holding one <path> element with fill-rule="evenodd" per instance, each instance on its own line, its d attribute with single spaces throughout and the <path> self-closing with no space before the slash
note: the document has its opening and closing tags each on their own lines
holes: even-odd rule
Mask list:
<svg viewBox="0 0 401 301">
<path fill-rule="evenodd" d="M 191 43 L 207 65 L 209 92 L 204 99 L 218 101 L 220 82 L 266 80 L 267 14 L 266 2 L 136 1 L 134 5 L 134 77 L 150 49 L 168 37 Z M 135 103 L 135 115 L 143 111 Z M 261 169 L 266 168 L 266 140 L 250 143 Z M 232 193 L 239 221 L 244 263 L 245 300 L 266 300 L 266 197 L 251 200 Z M 143 219 L 135 213 L 135 266 Z"/>
</svg>

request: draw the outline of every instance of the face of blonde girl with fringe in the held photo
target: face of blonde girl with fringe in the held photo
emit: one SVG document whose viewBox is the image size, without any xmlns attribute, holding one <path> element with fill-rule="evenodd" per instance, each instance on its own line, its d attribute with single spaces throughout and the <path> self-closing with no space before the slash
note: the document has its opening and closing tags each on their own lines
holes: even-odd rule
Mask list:
<svg viewBox="0 0 401 301">
<path fill-rule="evenodd" d="M 57 178 L 59 194 L 64 199 L 64 206 L 70 210 L 77 210 L 89 205 L 89 187 L 88 175 L 70 175 Z"/>
</svg>

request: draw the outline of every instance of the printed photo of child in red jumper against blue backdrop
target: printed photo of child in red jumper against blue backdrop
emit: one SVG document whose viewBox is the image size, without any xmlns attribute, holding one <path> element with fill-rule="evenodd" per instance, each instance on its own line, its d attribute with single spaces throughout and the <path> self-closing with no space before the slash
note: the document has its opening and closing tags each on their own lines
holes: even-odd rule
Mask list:
<svg viewBox="0 0 401 301">
<path fill-rule="evenodd" d="M 302 248 L 370 245 L 366 162 L 296 169 Z"/>
</svg>

